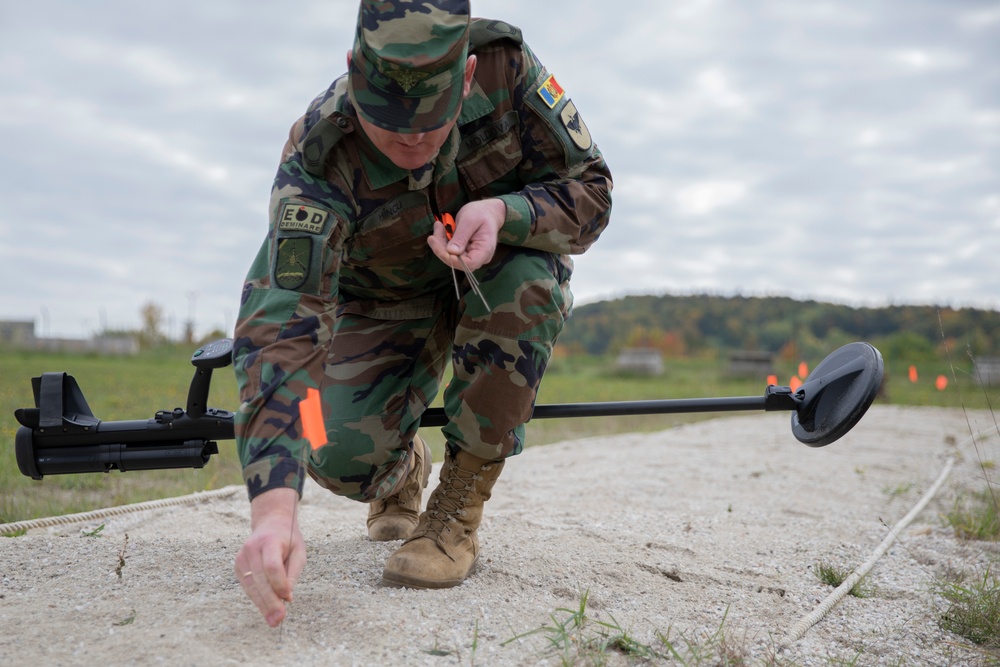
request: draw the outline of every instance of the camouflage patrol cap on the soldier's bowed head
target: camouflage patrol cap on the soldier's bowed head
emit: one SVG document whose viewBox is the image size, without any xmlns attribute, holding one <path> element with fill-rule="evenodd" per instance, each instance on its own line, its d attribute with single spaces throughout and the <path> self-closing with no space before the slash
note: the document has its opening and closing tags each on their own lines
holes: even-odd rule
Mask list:
<svg viewBox="0 0 1000 667">
<path fill-rule="evenodd" d="M 362 0 L 351 103 L 392 132 L 436 130 L 458 113 L 468 52 L 468 0 Z"/>
</svg>

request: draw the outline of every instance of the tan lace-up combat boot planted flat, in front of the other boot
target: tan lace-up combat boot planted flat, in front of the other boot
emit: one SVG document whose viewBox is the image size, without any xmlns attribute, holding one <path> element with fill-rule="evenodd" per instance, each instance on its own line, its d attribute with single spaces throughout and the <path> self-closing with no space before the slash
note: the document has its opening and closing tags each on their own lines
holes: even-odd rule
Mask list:
<svg viewBox="0 0 1000 667">
<path fill-rule="evenodd" d="M 446 455 L 441 483 L 427 501 L 420 525 L 386 560 L 383 582 L 448 588 L 475 572 L 479 559 L 476 530 L 483 517 L 483 503 L 490 499 L 503 464 L 461 450 L 454 457 Z"/>
</svg>

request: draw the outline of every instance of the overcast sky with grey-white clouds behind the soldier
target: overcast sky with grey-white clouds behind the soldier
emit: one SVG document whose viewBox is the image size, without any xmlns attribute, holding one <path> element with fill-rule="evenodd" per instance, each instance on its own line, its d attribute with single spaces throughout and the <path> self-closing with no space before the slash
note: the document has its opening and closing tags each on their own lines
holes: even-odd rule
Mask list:
<svg viewBox="0 0 1000 667">
<path fill-rule="evenodd" d="M 231 329 L 288 127 L 355 0 L 0 3 L 0 319 Z M 614 181 L 578 303 L 1000 308 L 1000 3 L 479 0 Z"/>
</svg>

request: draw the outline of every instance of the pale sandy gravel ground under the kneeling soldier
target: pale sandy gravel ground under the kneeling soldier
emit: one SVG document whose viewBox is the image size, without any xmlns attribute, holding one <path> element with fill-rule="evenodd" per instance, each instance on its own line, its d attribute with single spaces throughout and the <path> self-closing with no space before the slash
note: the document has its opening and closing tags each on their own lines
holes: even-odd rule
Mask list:
<svg viewBox="0 0 1000 667">
<path fill-rule="evenodd" d="M 242 490 L 35 529 L 0 539 L 0 664 L 624 665 L 644 663 L 588 647 L 624 633 L 684 654 L 718 644 L 720 628 L 748 664 L 981 664 L 938 627 L 932 584 L 993 557 L 941 514 L 985 488 L 980 461 L 998 451 L 988 414 L 880 405 L 816 449 L 781 413 L 530 448 L 487 505 L 478 572 L 442 591 L 382 586 L 398 543 L 370 542 L 365 506 L 310 483 L 309 561 L 280 631 L 233 575 L 249 525 Z M 845 597 L 786 641 L 833 592 L 817 566 L 868 561 L 949 459 L 940 491 L 872 568 L 869 596 Z"/>
</svg>

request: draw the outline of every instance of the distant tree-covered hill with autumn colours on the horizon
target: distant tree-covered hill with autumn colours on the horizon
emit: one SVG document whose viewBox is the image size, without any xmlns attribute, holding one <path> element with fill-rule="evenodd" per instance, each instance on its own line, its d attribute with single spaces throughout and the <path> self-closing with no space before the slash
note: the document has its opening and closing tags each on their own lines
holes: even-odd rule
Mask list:
<svg viewBox="0 0 1000 667">
<path fill-rule="evenodd" d="M 570 353 L 603 355 L 643 346 L 683 356 L 727 350 L 780 354 L 790 348 L 823 352 L 854 340 L 902 347 L 909 358 L 933 355 L 945 340 L 952 349 L 996 356 L 1000 312 L 855 308 L 789 297 L 628 296 L 575 308 L 559 342 Z"/>
</svg>

